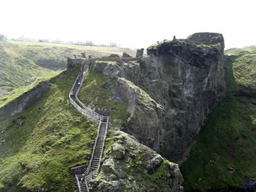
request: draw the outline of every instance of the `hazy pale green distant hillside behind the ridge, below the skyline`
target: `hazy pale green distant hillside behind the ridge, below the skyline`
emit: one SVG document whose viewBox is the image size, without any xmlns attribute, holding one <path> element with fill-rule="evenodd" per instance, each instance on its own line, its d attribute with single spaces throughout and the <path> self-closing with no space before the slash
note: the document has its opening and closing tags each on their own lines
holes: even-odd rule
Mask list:
<svg viewBox="0 0 256 192">
<path fill-rule="evenodd" d="M 7 103 L 6 99 L 10 95 L 19 96 L 33 87 L 32 83 L 37 84 L 37 81 L 59 74 L 66 68 L 66 58 L 80 52 L 86 52 L 93 57 L 107 56 L 111 53 L 121 55 L 122 52 L 134 55 L 134 51 L 130 49 L 107 46 L 0 42 L 0 106 Z"/>
</svg>

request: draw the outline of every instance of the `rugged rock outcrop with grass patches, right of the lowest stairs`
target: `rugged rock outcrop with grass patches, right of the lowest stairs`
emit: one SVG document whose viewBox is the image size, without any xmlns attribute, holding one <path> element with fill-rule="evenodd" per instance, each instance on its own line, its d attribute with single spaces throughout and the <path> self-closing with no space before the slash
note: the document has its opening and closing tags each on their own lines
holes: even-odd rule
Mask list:
<svg viewBox="0 0 256 192">
<path fill-rule="evenodd" d="M 107 142 L 99 176 L 89 182 L 90 191 L 183 191 L 178 165 L 127 133 L 113 135 Z"/>
</svg>

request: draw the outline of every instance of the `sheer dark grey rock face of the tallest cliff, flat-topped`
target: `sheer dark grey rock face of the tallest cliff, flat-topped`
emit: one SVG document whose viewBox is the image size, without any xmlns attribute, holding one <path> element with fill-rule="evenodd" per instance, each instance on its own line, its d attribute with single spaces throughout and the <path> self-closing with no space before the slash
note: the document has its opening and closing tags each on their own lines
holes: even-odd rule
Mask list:
<svg viewBox="0 0 256 192">
<path fill-rule="evenodd" d="M 226 88 L 222 35 L 192 38 L 198 35 L 148 48 L 148 57 L 141 61 L 144 87 L 165 108 L 166 127 L 154 149 L 175 162 L 185 158 Z"/>
</svg>

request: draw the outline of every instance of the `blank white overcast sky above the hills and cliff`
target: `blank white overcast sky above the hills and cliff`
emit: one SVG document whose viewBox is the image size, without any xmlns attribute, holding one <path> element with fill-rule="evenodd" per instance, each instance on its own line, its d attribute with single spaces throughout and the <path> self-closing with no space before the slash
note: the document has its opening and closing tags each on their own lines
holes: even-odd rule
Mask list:
<svg viewBox="0 0 256 192">
<path fill-rule="evenodd" d="M 256 44 L 256 0 L 1 0 L 0 34 L 146 48 L 219 32 L 226 48 Z"/>
</svg>

